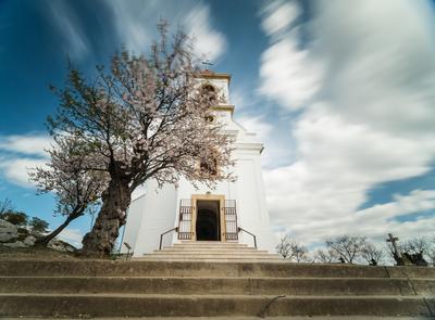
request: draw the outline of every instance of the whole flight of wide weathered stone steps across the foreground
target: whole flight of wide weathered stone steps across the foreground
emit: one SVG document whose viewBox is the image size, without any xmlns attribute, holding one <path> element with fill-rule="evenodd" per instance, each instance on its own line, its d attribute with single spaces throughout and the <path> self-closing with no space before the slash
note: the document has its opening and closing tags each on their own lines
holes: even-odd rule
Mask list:
<svg viewBox="0 0 435 320">
<path fill-rule="evenodd" d="M 435 268 L 1 260 L 0 317 L 34 316 L 434 319 Z"/>
</svg>

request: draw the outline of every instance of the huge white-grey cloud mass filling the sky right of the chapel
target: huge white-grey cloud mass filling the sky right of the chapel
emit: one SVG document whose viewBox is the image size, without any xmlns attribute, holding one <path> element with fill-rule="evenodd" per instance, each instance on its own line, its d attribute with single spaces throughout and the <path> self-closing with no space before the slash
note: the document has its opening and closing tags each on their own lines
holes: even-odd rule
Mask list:
<svg viewBox="0 0 435 320">
<path fill-rule="evenodd" d="M 435 191 L 359 210 L 376 184 L 424 175 L 435 158 L 432 11 L 405 0 L 314 4 L 313 40 L 303 50 L 295 31 L 307 26 L 263 22 L 271 46 L 260 91 L 284 110 L 302 108 L 290 128 L 295 163 L 265 172 L 272 222 L 306 243 L 433 232 L 433 216 L 394 218 L 433 208 Z"/>
</svg>

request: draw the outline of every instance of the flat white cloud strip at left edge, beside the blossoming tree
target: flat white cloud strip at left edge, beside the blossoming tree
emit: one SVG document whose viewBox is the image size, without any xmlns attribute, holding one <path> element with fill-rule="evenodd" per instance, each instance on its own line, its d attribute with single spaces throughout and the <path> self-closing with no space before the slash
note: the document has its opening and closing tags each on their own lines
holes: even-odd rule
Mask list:
<svg viewBox="0 0 435 320">
<path fill-rule="evenodd" d="M 44 135 L 22 135 L 0 137 L 0 151 L 28 155 L 47 156 L 52 139 Z"/>
</svg>

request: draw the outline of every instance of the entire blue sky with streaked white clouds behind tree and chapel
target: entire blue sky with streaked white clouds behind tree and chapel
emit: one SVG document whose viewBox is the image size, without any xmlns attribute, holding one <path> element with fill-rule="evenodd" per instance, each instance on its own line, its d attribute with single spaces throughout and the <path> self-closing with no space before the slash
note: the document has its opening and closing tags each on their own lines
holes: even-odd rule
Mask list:
<svg viewBox="0 0 435 320">
<path fill-rule="evenodd" d="M 67 59 L 91 75 L 122 44 L 147 52 L 167 18 L 233 75 L 236 119 L 265 143 L 274 230 L 309 244 L 381 240 L 435 226 L 433 1 L 0 1 L 0 199 L 54 228 L 50 195 L 26 167 L 45 162 L 46 117 Z M 82 218 L 64 238 L 89 230 Z"/>
</svg>

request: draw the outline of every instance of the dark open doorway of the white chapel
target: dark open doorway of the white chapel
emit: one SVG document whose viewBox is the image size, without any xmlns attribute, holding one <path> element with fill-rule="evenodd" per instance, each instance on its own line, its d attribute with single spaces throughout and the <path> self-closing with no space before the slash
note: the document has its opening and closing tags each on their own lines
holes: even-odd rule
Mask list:
<svg viewBox="0 0 435 320">
<path fill-rule="evenodd" d="M 220 241 L 219 201 L 197 201 L 197 240 Z"/>
</svg>

